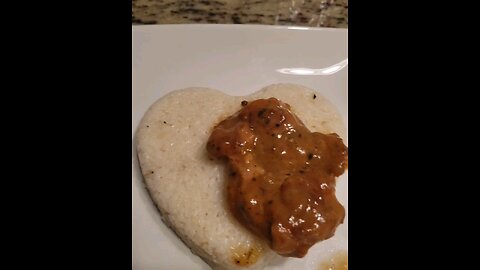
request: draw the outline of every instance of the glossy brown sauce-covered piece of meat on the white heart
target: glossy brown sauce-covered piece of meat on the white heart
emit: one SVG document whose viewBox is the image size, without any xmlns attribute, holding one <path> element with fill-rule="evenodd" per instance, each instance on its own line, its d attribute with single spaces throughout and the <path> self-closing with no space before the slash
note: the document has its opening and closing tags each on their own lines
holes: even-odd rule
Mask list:
<svg viewBox="0 0 480 270">
<path fill-rule="evenodd" d="M 335 180 L 348 149 L 336 134 L 310 132 L 275 98 L 242 106 L 207 143 L 211 157 L 228 160 L 230 210 L 278 254 L 303 257 L 343 223 Z"/>
</svg>

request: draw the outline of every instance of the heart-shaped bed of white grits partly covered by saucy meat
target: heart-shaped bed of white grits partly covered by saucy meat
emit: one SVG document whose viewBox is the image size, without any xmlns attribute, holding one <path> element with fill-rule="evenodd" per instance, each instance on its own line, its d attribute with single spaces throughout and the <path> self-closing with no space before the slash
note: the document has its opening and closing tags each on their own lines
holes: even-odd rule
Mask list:
<svg viewBox="0 0 480 270">
<path fill-rule="evenodd" d="M 261 234 L 232 214 L 229 170 L 206 151 L 217 124 L 246 103 L 271 97 L 289 104 L 309 130 L 346 138 L 336 108 L 313 90 L 293 84 L 271 85 L 245 97 L 208 88 L 177 90 L 156 101 L 137 130 L 146 188 L 164 222 L 214 269 L 262 269 L 277 256 Z"/>
</svg>

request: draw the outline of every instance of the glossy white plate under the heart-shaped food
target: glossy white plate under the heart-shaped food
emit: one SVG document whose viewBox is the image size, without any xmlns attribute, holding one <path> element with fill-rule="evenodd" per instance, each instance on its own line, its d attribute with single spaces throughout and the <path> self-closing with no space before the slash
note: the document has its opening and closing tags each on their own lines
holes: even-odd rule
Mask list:
<svg viewBox="0 0 480 270">
<path fill-rule="evenodd" d="M 172 90 L 191 86 L 247 95 L 273 83 L 297 83 L 327 97 L 348 125 L 348 68 L 333 74 L 326 72 L 330 75 L 307 76 L 278 71 L 326 68 L 347 59 L 347 49 L 348 31 L 344 29 L 133 26 L 132 139 L 141 117 L 155 100 Z M 142 181 L 132 143 L 132 268 L 210 269 L 163 224 Z M 347 173 L 339 180 L 337 195 L 347 217 L 335 236 L 315 245 L 303 259 L 289 258 L 268 269 L 318 269 L 333 252 L 348 250 Z"/>
</svg>

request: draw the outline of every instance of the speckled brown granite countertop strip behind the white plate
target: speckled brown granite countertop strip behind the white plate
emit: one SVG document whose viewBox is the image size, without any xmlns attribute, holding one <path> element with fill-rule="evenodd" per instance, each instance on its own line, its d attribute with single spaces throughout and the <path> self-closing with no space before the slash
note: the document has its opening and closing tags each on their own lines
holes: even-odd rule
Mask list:
<svg viewBox="0 0 480 270">
<path fill-rule="evenodd" d="M 132 0 L 132 24 L 184 23 L 348 28 L 348 0 Z"/>
</svg>

